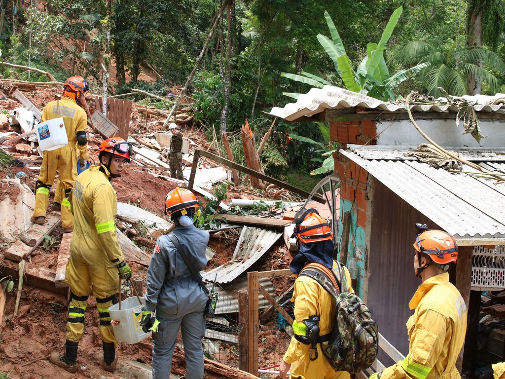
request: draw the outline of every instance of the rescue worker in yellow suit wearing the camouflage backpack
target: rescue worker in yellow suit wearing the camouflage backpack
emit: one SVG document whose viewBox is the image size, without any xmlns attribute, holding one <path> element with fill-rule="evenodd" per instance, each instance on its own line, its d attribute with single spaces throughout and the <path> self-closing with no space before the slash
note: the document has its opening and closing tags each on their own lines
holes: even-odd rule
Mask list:
<svg viewBox="0 0 505 379">
<path fill-rule="evenodd" d="M 296 223 L 298 251 L 290 264 L 293 274 L 298 275 L 307 264 L 312 262 L 320 263 L 332 270 L 339 270 L 338 263 L 333 260 L 333 233 L 328 222 L 315 209 L 300 212 L 300 222 Z M 343 272 L 347 283 L 350 283 L 350 274 L 345 266 L 343 266 Z M 349 292 L 354 292 L 354 290 L 349 288 Z M 294 281 L 291 301 L 294 303 L 295 336 L 291 338 L 289 347 L 280 362 L 281 379 L 288 377 L 288 371 L 291 379 L 349 379 L 348 372 L 335 371 L 330 366 L 320 344 L 317 344 L 317 358 L 311 360 L 312 344 L 303 343 L 300 339 L 306 336 L 307 323 L 311 322 L 312 317 L 320 317 L 320 336 L 328 335 L 332 331 L 336 312 L 335 299 L 315 279 L 300 275 Z"/>
</svg>

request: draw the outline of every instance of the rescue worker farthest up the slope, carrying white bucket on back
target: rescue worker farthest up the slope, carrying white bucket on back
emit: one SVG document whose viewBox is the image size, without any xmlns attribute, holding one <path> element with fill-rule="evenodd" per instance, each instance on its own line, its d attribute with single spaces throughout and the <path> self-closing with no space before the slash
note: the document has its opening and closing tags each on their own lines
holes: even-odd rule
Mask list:
<svg viewBox="0 0 505 379">
<path fill-rule="evenodd" d="M 63 117 L 68 136 L 68 145 L 52 151 L 44 151 L 40 174 L 35 183 L 35 208 L 32 222 L 43 224 L 49 203 L 49 188 L 53 185 L 56 171 L 59 175 L 56 196 L 61 199 L 62 227 L 65 232 L 72 231 L 74 224 L 68 197 L 77 177 L 76 160 L 79 155 L 81 165 L 88 160 L 86 112 L 77 105 L 77 101 L 88 90 L 88 82 L 82 76 L 72 76 L 64 83 L 63 98 L 47 103 L 42 111 L 41 122 Z M 57 206 L 55 206 L 57 209 Z M 53 209 L 55 209 L 55 207 Z"/>
</svg>

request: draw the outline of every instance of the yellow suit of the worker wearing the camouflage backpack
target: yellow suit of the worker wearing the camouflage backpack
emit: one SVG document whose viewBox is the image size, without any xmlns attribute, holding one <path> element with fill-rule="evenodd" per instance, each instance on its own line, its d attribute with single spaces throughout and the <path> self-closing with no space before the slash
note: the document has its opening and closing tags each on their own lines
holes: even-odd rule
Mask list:
<svg viewBox="0 0 505 379">
<path fill-rule="evenodd" d="M 333 268 L 338 268 L 335 261 L 333 262 Z M 345 266 L 344 273 L 349 285 L 349 292 L 354 292 L 350 288 L 350 274 Z M 315 279 L 303 275 L 298 276 L 294 282 L 291 301 L 294 303 L 294 318 L 296 322 L 303 322 L 310 316 L 320 316 L 320 335 L 324 336 L 331 332 L 336 312 L 335 299 Z M 318 358 L 314 361 L 310 360 L 310 349 L 311 345 L 302 344 L 294 337 L 291 338 L 289 347 L 283 357 L 284 362 L 291 363 L 290 378 L 348 379 L 350 377 L 348 372 L 335 371 L 330 366 L 323 356 L 319 344 L 317 345 Z"/>
</svg>

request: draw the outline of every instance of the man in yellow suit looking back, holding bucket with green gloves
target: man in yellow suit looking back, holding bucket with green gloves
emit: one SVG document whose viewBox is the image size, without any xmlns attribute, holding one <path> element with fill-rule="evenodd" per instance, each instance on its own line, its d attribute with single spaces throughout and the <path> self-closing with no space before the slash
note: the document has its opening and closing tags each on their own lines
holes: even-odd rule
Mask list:
<svg viewBox="0 0 505 379">
<path fill-rule="evenodd" d="M 114 219 L 116 192 L 110 180 L 121 176 L 124 162 L 130 162 L 131 144 L 121 137 L 106 139 L 99 148 L 100 165 L 92 165 L 77 176 L 70 196 L 74 213 L 74 233 L 66 279 L 70 287 L 66 350 L 53 352 L 49 360 L 69 372 L 77 366 L 77 346 L 84 330 L 84 313 L 89 294 L 96 299 L 104 359 L 100 368 L 114 371 L 118 357 L 109 307 L 115 303 L 119 278 L 128 280 L 131 268 L 118 244 Z"/>
</svg>

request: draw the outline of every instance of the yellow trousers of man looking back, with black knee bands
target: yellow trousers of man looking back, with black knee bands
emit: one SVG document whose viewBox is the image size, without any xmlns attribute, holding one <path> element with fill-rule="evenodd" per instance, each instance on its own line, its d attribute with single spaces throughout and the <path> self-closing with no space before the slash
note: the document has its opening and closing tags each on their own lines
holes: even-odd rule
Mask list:
<svg viewBox="0 0 505 379">
<path fill-rule="evenodd" d="M 114 304 L 119 289 L 118 270 L 106 254 L 87 248 L 86 240 L 92 239 L 92 235 L 82 235 L 79 232 L 82 230 L 77 230 L 76 233 L 74 229 L 66 270 L 70 287 L 66 339 L 72 342 L 79 342 L 81 339 L 86 300 L 92 291 L 100 317 L 100 336 L 104 342 L 114 343 L 116 346 L 109 308 Z M 94 238 L 97 238 L 96 235 Z"/>
</svg>

